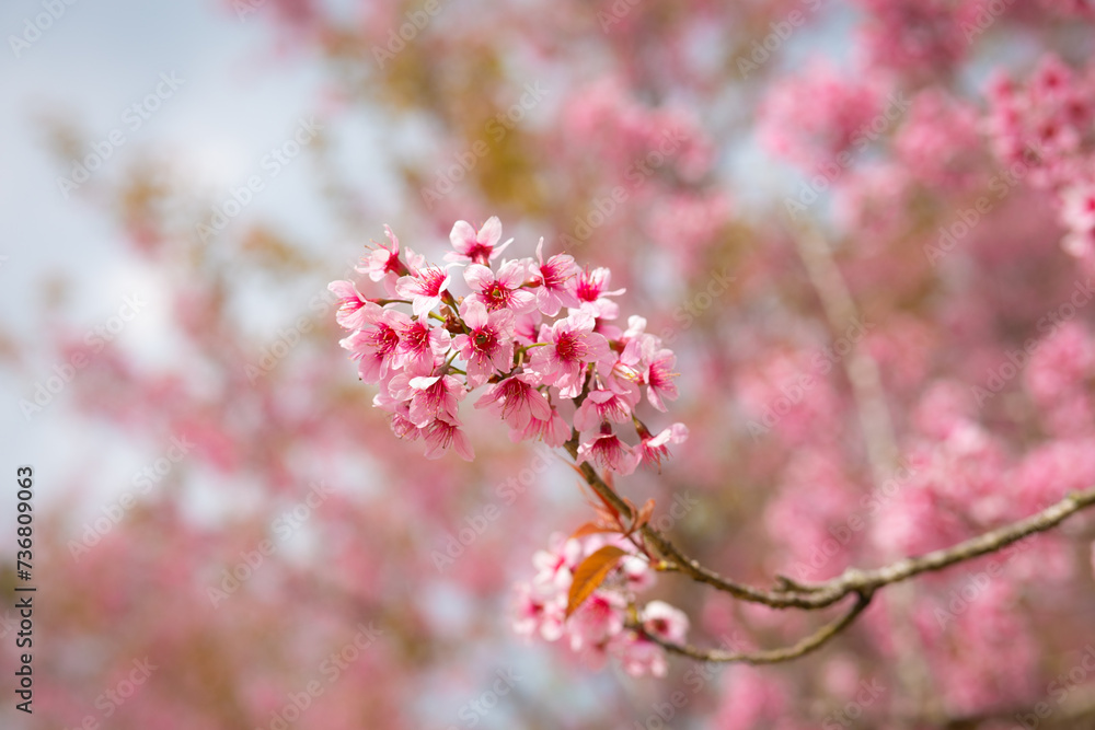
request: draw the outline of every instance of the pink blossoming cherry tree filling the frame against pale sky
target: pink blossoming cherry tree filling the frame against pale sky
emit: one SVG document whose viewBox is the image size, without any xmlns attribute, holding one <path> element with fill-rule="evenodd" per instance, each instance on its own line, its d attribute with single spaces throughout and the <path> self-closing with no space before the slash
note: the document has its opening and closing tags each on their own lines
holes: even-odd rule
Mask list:
<svg viewBox="0 0 1095 730">
<path fill-rule="evenodd" d="M 51 517 L 49 721 L 1091 726 L 1087 3 L 351 5 L 226 3 L 391 131 L 353 245 L 95 188 L 184 355 L 72 402 L 193 445 Z"/>
</svg>

